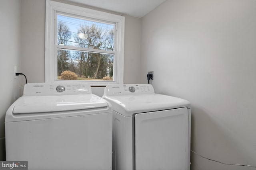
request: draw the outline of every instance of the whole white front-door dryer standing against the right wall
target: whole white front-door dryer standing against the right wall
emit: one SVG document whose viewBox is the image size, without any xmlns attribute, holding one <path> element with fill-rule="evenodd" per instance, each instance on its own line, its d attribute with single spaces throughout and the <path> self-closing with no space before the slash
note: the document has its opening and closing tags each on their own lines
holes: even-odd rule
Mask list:
<svg viewBox="0 0 256 170">
<path fill-rule="evenodd" d="M 151 84 L 108 85 L 114 170 L 190 170 L 191 108 Z"/>
</svg>

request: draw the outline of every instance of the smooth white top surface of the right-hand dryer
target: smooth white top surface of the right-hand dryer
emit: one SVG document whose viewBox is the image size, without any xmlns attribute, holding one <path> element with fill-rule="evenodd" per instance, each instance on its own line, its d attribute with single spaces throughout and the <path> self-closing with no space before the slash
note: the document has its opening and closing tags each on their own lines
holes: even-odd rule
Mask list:
<svg viewBox="0 0 256 170">
<path fill-rule="evenodd" d="M 132 94 L 120 96 L 104 96 L 112 109 L 126 117 L 134 113 L 144 113 L 181 107 L 190 108 L 190 102 L 184 99 L 162 94 Z"/>
</svg>

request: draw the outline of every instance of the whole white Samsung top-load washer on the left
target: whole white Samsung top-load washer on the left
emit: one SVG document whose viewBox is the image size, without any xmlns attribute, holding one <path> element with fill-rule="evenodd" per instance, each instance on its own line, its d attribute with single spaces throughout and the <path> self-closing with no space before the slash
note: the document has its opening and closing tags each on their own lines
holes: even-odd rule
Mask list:
<svg viewBox="0 0 256 170">
<path fill-rule="evenodd" d="M 5 135 L 6 160 L 28 170 L 112 170 L 111 105 L 88 84 L 26 84 Z"/>
</svg>

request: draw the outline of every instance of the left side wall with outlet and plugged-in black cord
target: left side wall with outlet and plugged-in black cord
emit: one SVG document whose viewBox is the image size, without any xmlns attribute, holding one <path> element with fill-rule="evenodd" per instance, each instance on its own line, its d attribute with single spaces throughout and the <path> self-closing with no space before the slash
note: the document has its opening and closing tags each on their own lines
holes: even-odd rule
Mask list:
<svg viewBox="0 0 256 170">
<path fill-rule="evenodd" d="M 14 65 L 20 72 L 20 0 L 4 0 L 0 5 L 0 160 L 5 159 L 4 119 L 8 107 L 19 97 L 20 78 L 14 78 Z"/>
</svg>

